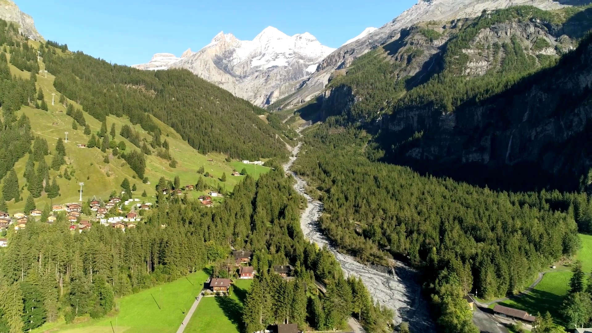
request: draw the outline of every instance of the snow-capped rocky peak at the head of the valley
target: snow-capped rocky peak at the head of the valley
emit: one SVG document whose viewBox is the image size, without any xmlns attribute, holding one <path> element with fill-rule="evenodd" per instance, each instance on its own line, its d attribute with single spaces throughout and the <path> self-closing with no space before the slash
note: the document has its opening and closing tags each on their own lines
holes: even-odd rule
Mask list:
<svg viewBox="0 0 592 333">
<path fill-rule="evenodd" d="M 297 82 L 316 71 L 333 50 L 309 33 L 288 36 L 268 27 L 253 40 L 219 33 L 203 49 L 188 50 L 181 59 L 173 56 L 161 62 L 153 58 L 152 65 L 134 67 L 186 68 L 237 97 L 265 106 L 294 91 Z"/>
</svg>

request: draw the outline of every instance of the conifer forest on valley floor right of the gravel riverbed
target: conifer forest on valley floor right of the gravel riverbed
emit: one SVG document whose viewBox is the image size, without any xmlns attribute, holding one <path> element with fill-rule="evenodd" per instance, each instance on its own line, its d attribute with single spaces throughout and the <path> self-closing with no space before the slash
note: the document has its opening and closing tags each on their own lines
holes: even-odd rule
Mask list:
<svg viewBox="0 0 592 333">
<path fill-rule="evenodd" d="M 444 332 L 474 332 L 461 299 L 521 291 L 590 230 L 586 193 L 508 193 L 371 162 L 371 136 L 313 127 L 294 170 L 321 191 L 320 227 L 362 262 L 391 256 L 419 268 Z"/>
</svg>

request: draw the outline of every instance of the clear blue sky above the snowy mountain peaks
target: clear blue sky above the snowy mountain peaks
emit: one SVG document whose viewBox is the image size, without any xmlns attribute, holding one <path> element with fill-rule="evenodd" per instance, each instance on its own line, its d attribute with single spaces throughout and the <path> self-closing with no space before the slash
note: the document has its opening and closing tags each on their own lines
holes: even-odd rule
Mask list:
<svg viewBox="0 0 592 333">
<path fill-rule="evenodd" d="M 309 32 L 339 47 L 366 27 L 381 27 L 417 0 L 15 0 L 49 40 L 125 65 L 154 53 L 197 51 L 220 31 L 253 39 L 272 25 Z"/>
</svg>

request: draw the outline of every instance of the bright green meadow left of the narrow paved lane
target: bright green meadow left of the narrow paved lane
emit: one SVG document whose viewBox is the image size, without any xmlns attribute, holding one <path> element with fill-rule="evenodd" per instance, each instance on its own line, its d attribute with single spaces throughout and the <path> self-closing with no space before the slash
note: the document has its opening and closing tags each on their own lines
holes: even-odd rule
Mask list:
<svg viewBox="0 0 592 333">
<path fill-rule="evenodd" d="M 79 324 L 66 325 L 65 322 L 48 324 L 33 332 L 107 333 L 112 332 L 111 325 L 115 332 L 176 332 L 185 318 L 185 312 L 191 308 L 195 296 L 200 293 L 207 278 L 208 275 L 200 271 L 187 278 L 179 278 L 179 280 L 118 299 L 119 312 L 116 315 L 96 320 L 88 319 Z"/>
</svg>

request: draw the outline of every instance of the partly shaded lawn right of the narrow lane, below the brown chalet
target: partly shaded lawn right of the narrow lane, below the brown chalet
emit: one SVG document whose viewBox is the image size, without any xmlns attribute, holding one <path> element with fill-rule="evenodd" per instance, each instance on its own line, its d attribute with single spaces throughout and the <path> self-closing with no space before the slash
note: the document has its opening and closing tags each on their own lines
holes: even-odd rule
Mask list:
<svg viewBox="0 0 592 333">
<path fill-rule="evenodd" d="M 185 332 L 242 332 L 242 308 L 252 280 L 236 280 L 229 297 L 204 297 Z"/>
</svg>

